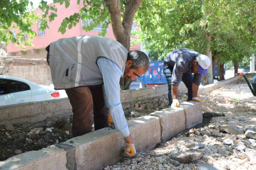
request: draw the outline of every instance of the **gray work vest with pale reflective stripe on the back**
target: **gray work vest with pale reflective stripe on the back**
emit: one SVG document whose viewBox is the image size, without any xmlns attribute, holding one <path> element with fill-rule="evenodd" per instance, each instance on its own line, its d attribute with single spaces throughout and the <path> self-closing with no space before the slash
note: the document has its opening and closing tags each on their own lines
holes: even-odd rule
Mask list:
<svg viewBox="0 0 256 170">
<path fill-rule="evenodd" d="M 122 70 L 128 51 L 122 44 L 100 36 L 62 38 L 50 44 L 49 65 L 54 89 L 103 84 L 97 59 L 104 57 Z"/>
</svg>

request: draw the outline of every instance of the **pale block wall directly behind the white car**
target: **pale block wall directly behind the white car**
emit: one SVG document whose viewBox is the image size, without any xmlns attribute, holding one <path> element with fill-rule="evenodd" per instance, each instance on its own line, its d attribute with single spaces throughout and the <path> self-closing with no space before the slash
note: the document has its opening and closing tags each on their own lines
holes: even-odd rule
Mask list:
<svg viewBox="0 0 256 170">
<path fill-rule="evenodd" d="M 4 66 L 2 75 L 13 76 L 29 80 L 36 84 L 50 85 L 51 70 L 45 60 L 24 59 L 24 58 L 3 58 L 1 62 Z"/>
</svg>

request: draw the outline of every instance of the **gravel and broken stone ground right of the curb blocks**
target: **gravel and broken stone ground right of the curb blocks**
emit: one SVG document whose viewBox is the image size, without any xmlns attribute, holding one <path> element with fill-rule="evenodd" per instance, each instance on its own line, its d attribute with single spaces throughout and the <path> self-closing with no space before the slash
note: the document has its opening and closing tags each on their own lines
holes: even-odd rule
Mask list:
<svg viewBox="0 0 256 170">
<path fill-rule="evenodd" d="M 186 94 L 179 96 L 181 102 L 186 100 Z M 240 101 L 235 101 L 239 96 Z M 247 84 L 239 85 L 238 81 L 199 98 L 204 113 L 224 113 L 225 117 L 213 117 L 204 127 L 180 133 L 152 151 L 107 166 L 105 170 L 255 170 L 256 97 Z"/>
</svg>

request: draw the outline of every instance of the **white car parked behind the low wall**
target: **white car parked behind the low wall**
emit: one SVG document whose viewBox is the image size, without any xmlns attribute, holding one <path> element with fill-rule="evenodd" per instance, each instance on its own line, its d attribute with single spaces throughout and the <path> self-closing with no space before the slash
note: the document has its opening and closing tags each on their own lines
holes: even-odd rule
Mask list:
<svg viewBox="0 0 256 170">
<path fill-rule="evenodd" d="M 0 75 L 0 106 L 58 98 L 60 98 L 60 93 L 50 86 Z"/>
</svg>

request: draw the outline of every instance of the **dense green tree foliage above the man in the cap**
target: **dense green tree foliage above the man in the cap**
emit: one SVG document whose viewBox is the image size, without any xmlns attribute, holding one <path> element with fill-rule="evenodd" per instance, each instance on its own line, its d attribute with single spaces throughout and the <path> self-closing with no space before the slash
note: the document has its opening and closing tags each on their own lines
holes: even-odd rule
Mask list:
<svg viewBox="0 0 256 170">
<path fill-rule="evenodd" d="M 222 62 L 250 57 L 256 49 L 254 0 L 143 1 L 135 21 L 140 27 L 136 42 L 159 60 L 177 48 L 205 53 L 207 44 Z"/>
</svg>

